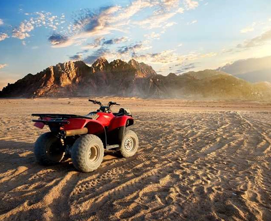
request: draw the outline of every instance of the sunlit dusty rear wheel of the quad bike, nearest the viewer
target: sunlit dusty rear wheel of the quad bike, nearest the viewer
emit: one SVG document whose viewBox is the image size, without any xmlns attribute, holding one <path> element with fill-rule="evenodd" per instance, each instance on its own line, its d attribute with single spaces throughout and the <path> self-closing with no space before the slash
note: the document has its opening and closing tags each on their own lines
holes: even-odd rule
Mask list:
<svg viewBox="0 0 271 221">
<path fill-rule="evenodd" d="M 92 134 L 78 138 L 71 150 L 73 166 L 82 172 L 96 170 L 102 163 L 104 154 L 102 140 Z"/>
</svg>

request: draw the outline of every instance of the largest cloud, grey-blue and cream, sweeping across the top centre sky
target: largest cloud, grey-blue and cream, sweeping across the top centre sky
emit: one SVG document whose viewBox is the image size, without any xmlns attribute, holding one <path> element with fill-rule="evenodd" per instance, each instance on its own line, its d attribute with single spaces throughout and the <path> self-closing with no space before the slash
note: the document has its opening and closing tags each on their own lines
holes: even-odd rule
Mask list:
<svg viewBox="0 0 271 221">
<path fill-rule="evenodd" d="M 139 21 L 131 21 L 132 17 L 143 9 L 148 8 L 152 14 Z M 142 28 L 168 28 L 176 23 L 169 22 L 177 13 L 183 13 L 184 9 L 179 7 L 179 0 L 134 0 L 127 6 L 107 6 L 98 10 L 82 9 L 76 15 L 74 23 L 68 26 L 67 36 L 70 44 L 63 42 L 63 47 L 76 43 L 78 39 L 88 39 L 104 36 L 119 31 L 128 33 L 130 28 L 139 25 Z M 113 39 L 104 41 L 110 45 Z M 59 46 L 61 43 L 59 44 Z M 84 46 L 84 48 L 97 48 L 96 42 Z M 101 44 L 100 44 L 101 46 Z"/>
</svg>

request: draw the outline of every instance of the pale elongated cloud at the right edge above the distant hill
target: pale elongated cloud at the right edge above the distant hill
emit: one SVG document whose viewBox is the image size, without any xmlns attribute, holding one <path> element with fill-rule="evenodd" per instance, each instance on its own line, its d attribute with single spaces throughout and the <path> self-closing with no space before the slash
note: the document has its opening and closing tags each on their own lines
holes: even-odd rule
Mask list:
<svg viewBox="0 0 271 221">
<path fill-rule="evenodd" d="M 238 44 L 237 48 L 248 49 L 257 46 L 262 46 L 266 44 L 268 41 L 271 41 L 271 29 L 255 38 L 245 40 L 242 44 Z"/>
</svg>

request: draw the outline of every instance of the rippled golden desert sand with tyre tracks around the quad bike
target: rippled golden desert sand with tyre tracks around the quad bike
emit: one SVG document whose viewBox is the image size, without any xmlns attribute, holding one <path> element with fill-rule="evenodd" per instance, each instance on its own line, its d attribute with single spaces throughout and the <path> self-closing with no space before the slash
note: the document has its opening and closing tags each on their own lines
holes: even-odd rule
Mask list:
<svg viewBox="0 0 271 221">
<path fill-rule="evenodd" d="M 271 221 L 271 104 L 115 100 L 135 117 L 139 150 L 99 169 L 39 166 L 48 128 L 31 113 L 86 114 L 87 98 L 0 100 L 1 221 Z"/>
</svg>

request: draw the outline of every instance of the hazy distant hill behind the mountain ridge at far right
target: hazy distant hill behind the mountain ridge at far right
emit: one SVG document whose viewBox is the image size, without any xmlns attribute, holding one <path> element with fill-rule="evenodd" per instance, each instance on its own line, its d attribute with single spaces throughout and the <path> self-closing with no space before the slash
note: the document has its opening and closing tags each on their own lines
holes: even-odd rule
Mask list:
<svg viewBox="0 0 271 221">
<path fill-rule="evenodd" d="M 217 69 L 246 81 L 271 83 L 271 56 L 237 60 Z"/>
</svg>

